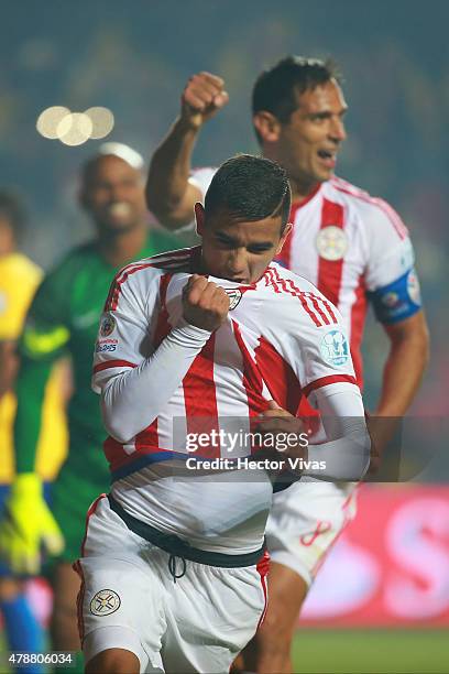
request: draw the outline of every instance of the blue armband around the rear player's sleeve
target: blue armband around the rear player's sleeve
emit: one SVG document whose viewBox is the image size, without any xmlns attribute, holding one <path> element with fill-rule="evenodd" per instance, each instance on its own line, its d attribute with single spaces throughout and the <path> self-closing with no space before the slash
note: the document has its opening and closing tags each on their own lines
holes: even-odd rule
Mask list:
<svg viewBox="0 0 449 674">
<path fill-rule="evenodd" d="M 381 323 L 397 323 L 409 318 L 421 308 L 419 281 L 414 268 L 377 290 L 368 293 Z"/>
</svg>

